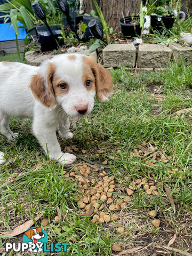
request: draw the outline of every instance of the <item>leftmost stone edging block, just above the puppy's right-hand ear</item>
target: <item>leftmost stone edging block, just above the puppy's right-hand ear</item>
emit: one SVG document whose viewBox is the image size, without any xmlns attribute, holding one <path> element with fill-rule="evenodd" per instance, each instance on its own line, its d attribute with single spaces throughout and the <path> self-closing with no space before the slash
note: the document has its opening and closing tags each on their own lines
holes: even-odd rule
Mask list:
<svg viewBox="0 0 192 256">
<path fill-rule="evenodd" d="M 133 44 L 109 44 L 103 49 L 104 67 L 134 67 L 136 49 Z"/>
</svg>

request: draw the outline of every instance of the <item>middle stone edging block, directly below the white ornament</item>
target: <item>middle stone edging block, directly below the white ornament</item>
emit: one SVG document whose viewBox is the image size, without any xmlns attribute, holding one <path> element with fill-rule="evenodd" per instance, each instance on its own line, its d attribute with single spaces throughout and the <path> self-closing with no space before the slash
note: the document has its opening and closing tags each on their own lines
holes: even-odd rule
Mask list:
<svg viewBox="0 0 192 256">
<path fill-rule="evenodd" d="M 139 68 L 165 68 L 169 65 L 172 50 L 161 44 L 141 44 L 138 52 Z"/>
</svg>

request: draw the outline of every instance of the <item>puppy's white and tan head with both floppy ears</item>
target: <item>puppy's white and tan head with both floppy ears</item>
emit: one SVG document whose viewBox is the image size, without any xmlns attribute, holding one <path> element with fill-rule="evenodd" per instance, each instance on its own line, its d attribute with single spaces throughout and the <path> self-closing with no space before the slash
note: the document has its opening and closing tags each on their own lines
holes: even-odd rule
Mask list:
<svg viewBox="0 0 192 256">
<path fill-rule="evenodd" d="M 112 86 L 109 72 L 81 54 L 60 54 L 43 62 L 29 85 L 45 107 L 60 105 L 69 116 L 89 114 L 95 93 L 98 100 L 106 101 Z"/>
</svg>

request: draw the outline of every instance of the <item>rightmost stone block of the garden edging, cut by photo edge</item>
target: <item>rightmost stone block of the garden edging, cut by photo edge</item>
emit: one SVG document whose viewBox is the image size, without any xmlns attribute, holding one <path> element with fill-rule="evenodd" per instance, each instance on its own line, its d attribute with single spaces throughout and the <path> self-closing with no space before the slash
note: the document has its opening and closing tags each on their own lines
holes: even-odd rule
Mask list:
<svg viewBox="0 0 192 256">
<path fill-rule="evenodd" d="M 186 60 L 187 64 L 191 64 L 192 62 L 192 50 L 187 46 L 182 46 L 177 43 L 172 43 L 169 45 L 170 49 L 172 49 L 173 59 L 178 61 L 179 58 Z"/>
</svg>

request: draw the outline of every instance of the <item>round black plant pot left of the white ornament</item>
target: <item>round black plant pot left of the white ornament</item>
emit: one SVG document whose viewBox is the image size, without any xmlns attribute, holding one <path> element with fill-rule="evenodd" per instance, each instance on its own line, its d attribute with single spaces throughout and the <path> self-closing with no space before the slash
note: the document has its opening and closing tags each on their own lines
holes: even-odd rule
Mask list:
<svg viewBox="0 0 192 256">
<path fill-rule="evenodd" d="M 125 37 L 135 37 L 140 36 L 141 28 L 140 28 L 140 17 L 139 16 L 127 16 L 119 20 L 119 24 L 121 25 L 122 34 Z"/>
</svg>

